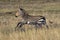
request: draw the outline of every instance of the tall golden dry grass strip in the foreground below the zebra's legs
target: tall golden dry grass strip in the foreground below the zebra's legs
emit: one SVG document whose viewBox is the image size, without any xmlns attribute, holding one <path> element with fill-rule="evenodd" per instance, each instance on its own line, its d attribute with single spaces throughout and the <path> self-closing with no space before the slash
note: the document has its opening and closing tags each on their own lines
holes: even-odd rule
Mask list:
<svg viewBox="0 0 60 40">
<path fill-rule="evenodd" d="M 0 33 L 0 40 L 60 40 L 60 28 Z"/>
</svg>

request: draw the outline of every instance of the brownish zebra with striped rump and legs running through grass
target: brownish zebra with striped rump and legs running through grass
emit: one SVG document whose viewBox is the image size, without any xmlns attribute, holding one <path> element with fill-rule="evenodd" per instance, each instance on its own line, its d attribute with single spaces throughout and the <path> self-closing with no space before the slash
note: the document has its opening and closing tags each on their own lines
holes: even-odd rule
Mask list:
<svg viewBox="0 0 60 40">
<path fill-rule="evenodd" d="M 42 27 L 42 25 L 46 25 L 46 18 L 44 16 L 33 16 L 26 13 L 26 11 L 22 8 L 19 8 L 16 17 L 21 16 L 22 21 L 20 21 L 16 28 L 21 28 L 24 24 L 35 25 L 36 28 Z"/>
</svg>

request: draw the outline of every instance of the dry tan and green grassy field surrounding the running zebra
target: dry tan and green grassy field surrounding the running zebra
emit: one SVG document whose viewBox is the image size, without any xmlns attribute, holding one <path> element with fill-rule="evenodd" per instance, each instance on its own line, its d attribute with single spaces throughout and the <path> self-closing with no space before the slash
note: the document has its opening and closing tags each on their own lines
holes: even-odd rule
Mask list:
<svg viewBox="0 0 60 40">
<path fill-rule="evenodd" d="M 60 3 L 40 1 L 0 4 L 0 40 L 60 40 Z M 49 29 L 35 30 L 33 25 L 24 25 L 25 31 L 15 31 L 21 17 L 15 17 L 18 6 L 24 8 L 30 15 L 43 15 L 46 17 Z M 12 14 L 9 14 L 12 12 Z M 52 23 L 50 23 L 52 21 Z"/>
</svg>

